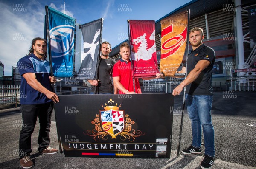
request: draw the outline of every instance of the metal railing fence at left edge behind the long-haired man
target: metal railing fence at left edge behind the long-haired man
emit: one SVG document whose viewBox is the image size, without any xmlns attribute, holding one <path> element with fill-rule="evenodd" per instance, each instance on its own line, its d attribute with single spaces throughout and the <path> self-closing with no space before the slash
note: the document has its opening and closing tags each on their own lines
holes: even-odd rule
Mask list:
<svg viewBox="0 0 256 169">
<path fill-rule="evenodd" d="M 20 86 L 19 85 L 0 85 L 0 107 L 20 103 Z"/>
</svg>

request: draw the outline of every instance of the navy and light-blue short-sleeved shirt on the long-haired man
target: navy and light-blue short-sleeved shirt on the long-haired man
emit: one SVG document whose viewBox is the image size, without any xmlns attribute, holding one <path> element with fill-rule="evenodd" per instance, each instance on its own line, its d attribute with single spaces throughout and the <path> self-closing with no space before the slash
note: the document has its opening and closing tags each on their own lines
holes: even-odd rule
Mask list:
<svg viewBox="0 0 256 169">
<path fill-rule="evenodd" d="M 35 78 L 42 86 L 52 91 L 50 76 L 50 63 L 47 60 L 38 59 L 34 54 L 25 56 L 17 62 L 17 68 L 21 75 L 20 104 L 43 104 L 51 102 L 46 95 L 33 89 L 23 78 L 25 73 L 35 73 Z"/>
</svg>

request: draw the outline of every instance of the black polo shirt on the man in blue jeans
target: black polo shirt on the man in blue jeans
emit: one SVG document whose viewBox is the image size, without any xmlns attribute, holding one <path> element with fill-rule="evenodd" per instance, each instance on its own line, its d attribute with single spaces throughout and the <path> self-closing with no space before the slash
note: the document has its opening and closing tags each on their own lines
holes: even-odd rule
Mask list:
<svg viewBox="0 0 256 169">
<path fill-rule="evenodd" d="M 191 51 L 187 59 L 187 74 L 195 68 L 199 60 L 207 60 L 210 63 L 195 79 L 186 87 L 186 94 L 190 95 L 213 95 L 212 91 L 212 68 L 215 61 L 215 52 L 205 44 L 200 45 L 195 51 Z"/>
</svg>

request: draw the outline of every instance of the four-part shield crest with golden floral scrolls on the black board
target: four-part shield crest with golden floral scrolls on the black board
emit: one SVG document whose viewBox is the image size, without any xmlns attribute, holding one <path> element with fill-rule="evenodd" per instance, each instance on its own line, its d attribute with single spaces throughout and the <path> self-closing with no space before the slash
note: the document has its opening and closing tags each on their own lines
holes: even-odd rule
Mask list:
<svg viewBox="0 0 256 169">
<path fill-rule="evenodd" d="M 86 135 L 90 135 L 94 138 L 95 141 L 107 140 L 108 135 L 111 136 L 111 139 L 117 137 L 122 141 L 129 140 L 133 142 L 136 137 L 144 135 L 142 131 L 135 131 L 132 128 L 132 125 L 135 124 L 131 120 L 128 114 L 125 115 L 124 110 L 119 110 L 119 107 L 114 106 L 114 101 L 110 99 L 108 105 L 105 104 L 105 107 L 102 105 L 104 110 L 99 110 L 100 114 L 97 114 L 96 117 L 91 121 L 95 125 L 93 130 L 87 130 Z"/>
</svg>

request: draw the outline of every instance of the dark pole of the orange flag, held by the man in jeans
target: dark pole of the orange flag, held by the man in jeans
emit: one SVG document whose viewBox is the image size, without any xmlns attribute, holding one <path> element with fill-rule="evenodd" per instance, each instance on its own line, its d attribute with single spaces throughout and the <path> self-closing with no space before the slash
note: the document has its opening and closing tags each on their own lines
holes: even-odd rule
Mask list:
<svg viewBox="0 0 256 169">
<path fill-rule="evenodd" d="M 186 51 L 186 73 L 185 73 L 185 79 L 187 76 L 187 60 L 188 60 L 188 54 L 189 54 L 189 19 L 190 19 L 190 9 L 187 10 L 188 13 L 188 31 L 187 31 L 187 51 Z M 177 156 L 180 154 L 180 141 L 181 141 L 181 133 L 182 133 L 182 127 L 183 127 L 183 119 L 184 119 L 184 109 L 185 109 L 185 99 L 186 99 L 186 86 L 184 87 L 184 93 L 183 93 L 183 105 L 182 105 L 182 114 L 181 114 L 181 122 L 180 122 L 180 135 L 178 140 L 178 149 L 177 149 Z"/>
</svg>

